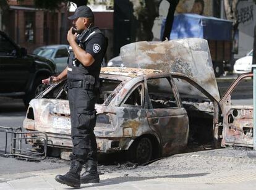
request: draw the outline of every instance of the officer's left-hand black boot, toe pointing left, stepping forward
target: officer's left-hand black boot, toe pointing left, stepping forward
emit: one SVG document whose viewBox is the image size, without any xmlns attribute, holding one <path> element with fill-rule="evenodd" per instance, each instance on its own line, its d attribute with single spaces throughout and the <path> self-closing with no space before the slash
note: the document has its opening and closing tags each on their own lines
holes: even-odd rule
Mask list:
<svg viewBox="0 0 256 190">
<path fill-rule="evenodd" d="M 73 188 L 79 188 L 81 170 L 82 164 L 77 160 L 72 160 L 69 172 L 67 172 L 65 175 L 56 175 L 55 180 Z"/>
</svg>

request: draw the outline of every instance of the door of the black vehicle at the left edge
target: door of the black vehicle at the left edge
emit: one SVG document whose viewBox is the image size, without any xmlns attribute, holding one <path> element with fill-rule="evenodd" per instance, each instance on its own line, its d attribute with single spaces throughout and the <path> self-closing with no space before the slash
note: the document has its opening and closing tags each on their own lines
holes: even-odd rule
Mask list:
<svg viewBox="0 0 256 190">
<path fill-rule="evenodd" d="M 22 57 L 6 35 L 0 33 L 0 93 L 23 93 L 28 81 L 30 61 Z"/>
</svg>

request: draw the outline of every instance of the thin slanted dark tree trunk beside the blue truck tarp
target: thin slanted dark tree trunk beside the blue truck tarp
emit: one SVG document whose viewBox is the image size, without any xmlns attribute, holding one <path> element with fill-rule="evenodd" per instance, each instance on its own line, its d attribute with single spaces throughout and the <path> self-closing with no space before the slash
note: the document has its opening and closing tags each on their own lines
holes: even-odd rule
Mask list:
<svg viewBox="0 0 256 190">
<path fill-rule="evenodd" d="M 168 40 L 170 39 L 170 33 L 173 28 L 174 12 L 176 10 L 177 4 L 179 4 L 179 0 L 168 0 L 168 2 L 170 6 L 168 10 L 168 15 L 166 17 L 162 41 L 164 41 L 166 38 Z"/>
</svg>

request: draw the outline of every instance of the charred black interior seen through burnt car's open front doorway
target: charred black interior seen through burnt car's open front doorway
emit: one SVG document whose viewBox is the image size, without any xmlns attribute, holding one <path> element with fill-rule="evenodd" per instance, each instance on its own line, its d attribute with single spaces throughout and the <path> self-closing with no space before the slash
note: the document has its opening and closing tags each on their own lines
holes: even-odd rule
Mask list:
<svg viewBox="0 0 256 190">
<path fill-rule="evenodd" d="M 189 117 L 189 149 L 213 145 L 213 102 L 189 81 L 174 78 Z"/>
</svg>

